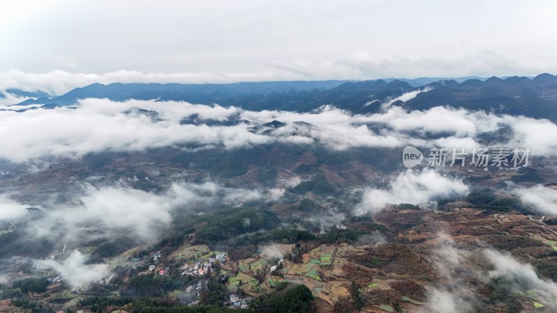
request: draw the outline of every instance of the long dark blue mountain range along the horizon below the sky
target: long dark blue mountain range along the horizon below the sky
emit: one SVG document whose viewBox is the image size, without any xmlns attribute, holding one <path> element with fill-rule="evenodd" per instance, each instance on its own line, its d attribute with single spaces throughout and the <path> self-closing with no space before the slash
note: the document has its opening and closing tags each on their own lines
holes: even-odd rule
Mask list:
<svg viewBox="0 0 557 313">
<path fill-rule="evenodd" d="M 79 99 L 157 99 L 201 104 L 240 106 L 249 110 L 311 111 L 332 104 L 354 113 L 375 113 L 382 104 L 425 110 L 453 106 L 533 118 L 557 118 L 557 77 L 540 74 L 533 78 L 439 80 L 420 85 L 419 80 L 283 81 L 236 84 L 111 83 L 75 88 L 64 95 L 29 99 L 17 105 L 42 104 L 45 108 L 70 106 Z M 409 81 L 411 83 L 409 83 Z M 419 85 L 419 86 L 414 86 Z M 427 92 L 421 92 L 428 90 Z M 405 102 L 395 101 L 406 93 L 417 93 Z M 414 96 L 414 95 L 413 95 Z"/>
</svg>

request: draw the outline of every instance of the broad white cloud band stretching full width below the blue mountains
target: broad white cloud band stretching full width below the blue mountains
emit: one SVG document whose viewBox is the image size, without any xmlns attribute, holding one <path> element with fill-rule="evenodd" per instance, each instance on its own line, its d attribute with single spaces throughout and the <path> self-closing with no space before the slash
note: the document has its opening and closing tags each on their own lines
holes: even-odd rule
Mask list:
<svg viewBox="0 0 557 313">
<path fill-rule="evenodd" d="M 156 114 L 156 118 L 136 108 L 153 111 L 149 114 Z M 201 122 L 180 124 L 191 116 Z M 247 120 L 249 124 L 237 123 L 239 120 Z M 286 125 L 253 130 L 273 120 Z M 268 143 L 317 142 L 334 150 L 405 145 L 471 149 L 482 147 L 476 138 L 478 134 L 505 125 L 512 127 L 514 136 L 500 145 L 530 147 L 537 156 L 557 153 L 557 143 L 552 139 L 557 136 L 557 125 L 549 120 L 483 111 L 446 107 L 406 111 L 391 107 L 383 113 L 354 115 L 332 106 L 311 113 L 255 112 L 185 102 L 85 99 L 77 109 L 0 111 L 0 137 L 3 138 L 0 158 L 24 162 L 48 156 L 80 157 L 88 152 L 157 147 L 235 149 Z"/>
</svg>

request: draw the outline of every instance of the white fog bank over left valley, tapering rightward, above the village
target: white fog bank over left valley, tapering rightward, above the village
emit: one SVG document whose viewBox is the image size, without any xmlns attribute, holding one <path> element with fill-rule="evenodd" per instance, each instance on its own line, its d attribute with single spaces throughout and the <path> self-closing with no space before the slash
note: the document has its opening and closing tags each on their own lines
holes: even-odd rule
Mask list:
<svg viewBox="0 0 557 313">
<path fill-rule="evenodd" d="M 275 190 L 229 188 L 214 182 L 175 183 L 162 193 L 150 193 L 128 186 L 88 186 L 84 195 L 70 202 L 38 205 L 44 216 L 29 223 L 29 236 L 75 243 L 86 238 L 130 234 L 150 243 L 172 221 L 175 210 L 191 210 L 199 204 L 274 200 L 282 193 Z M 15 220 L 26 214 L 25 204 L 0 198 L 0 220 Z M 54 227 L 54 228 L 53 228 Z"/>
</svg>

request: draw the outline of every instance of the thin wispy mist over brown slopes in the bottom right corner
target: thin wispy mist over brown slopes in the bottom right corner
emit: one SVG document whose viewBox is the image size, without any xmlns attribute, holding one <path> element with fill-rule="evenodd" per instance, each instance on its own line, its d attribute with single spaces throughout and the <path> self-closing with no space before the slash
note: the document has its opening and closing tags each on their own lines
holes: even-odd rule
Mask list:
<svg viewBox="0 0 557 313">
<path fill-rule="evenodd" d="M 528 303 L 536 300 L 551 310 L 557 307 L 557 284 L 539 278 L 531 264 L 490 248 L 459 248 L 447 234 L 438 236 L 431 261 L 439 279 L 426 287 L 427 304 L 420 312 L 466 313 L 486 310 L 489 305 L 504 306 L 485 298 L 483 289 L 478 289 L 479 284 L 490 284 L 494 279 L 502 279 L 498 282 L 508 298 L 523 295 Z"/>
</svg>

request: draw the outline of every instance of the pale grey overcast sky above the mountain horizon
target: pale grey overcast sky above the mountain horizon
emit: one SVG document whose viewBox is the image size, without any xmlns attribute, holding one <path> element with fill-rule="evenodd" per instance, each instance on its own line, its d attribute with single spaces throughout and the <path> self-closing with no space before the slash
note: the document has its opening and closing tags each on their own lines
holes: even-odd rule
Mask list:
<svg viewBox="0 0 557 313">
<path fill-rule="evenodd" d="M 557 1 L 14 0 L 2 3 L 0 45 L 3 81 L 555 74 Z"/>
</svg>

